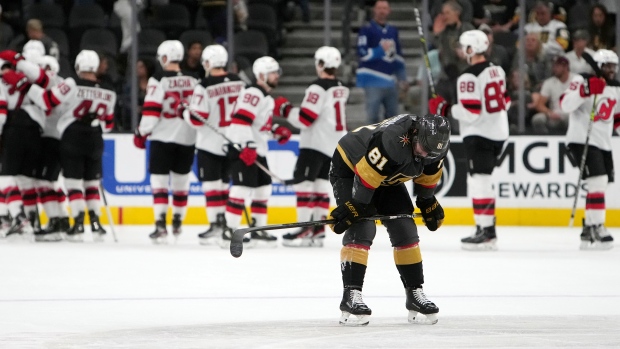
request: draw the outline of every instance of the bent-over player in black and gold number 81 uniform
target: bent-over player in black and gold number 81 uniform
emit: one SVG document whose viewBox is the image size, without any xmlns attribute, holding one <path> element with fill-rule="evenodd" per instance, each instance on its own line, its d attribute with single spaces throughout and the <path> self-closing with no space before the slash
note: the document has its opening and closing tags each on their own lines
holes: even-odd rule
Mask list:
<svg viewBox="0 0 620 349">
<path fill-rule="evenodd" d="M 366 325 L 371 310 L 362 299 L 362 287 L 370 246 L 376 235 L 374 221 L 362 217 L 411 214 L 413 203 L 404 182 L 413 180 L 416 206 L 426 226 L 437 230 L 444 219 L 434 192 L 443 170 L 450 142 L 450 123 L 438 115 L 401 114 L 379 124 L 360 127 L 338 142 L 329 180 L 336 207 L 332 227 L 342 238 L 340 263 L 344 292 L 340 310 L 342 325 Z M 405 287 L 409 322 L 437 322 L 439 308 L 422 290 L 424 273 L 418 231 L 412 219 L 385 220 L 394 262 Z M 418 313 L 426 319 L 416 318 Z M 357 319 L 350 318 L 355 315 Z"/>
</svg>

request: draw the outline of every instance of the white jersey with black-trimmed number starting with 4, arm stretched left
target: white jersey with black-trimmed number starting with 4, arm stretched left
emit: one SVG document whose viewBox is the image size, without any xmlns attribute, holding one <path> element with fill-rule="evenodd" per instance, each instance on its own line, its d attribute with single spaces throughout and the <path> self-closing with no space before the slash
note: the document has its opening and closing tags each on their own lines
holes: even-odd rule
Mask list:
<svg viewBox="0 0 620 349">
<path fill-rule="evenodd" d="M 116 92 L 111 86 L 98 82 L 67 78 L 50 90 L 32 85 L 28 97 L 43 109 L 46 115 L 58 113 L 58 132 L 62 137 L 69 125 L 84 117 L 96 115 L 91 126 L 101 126 L 104 132 L 114 127 L 114 107 Z"/>
</svg>

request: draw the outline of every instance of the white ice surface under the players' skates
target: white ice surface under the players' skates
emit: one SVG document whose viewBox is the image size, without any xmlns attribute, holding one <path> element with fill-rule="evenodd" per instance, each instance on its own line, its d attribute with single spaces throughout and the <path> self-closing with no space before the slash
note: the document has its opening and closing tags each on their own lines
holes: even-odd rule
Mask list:
<svg viewBox="0 0 620 349">
<path fill-rule="evenodd" d="M 338 325 L 339 236 L 235 259 L 201 229 L 167 246 L 150 226 L 117 227 L 118 244 L 0 241 L 0 348 L 620 348 L 620 245 L 579 251 L 580 227 L 498 227 L 496 252 L 462 251 L 471 227 L 422 228 L 434 326 L 407 323 L 379 227 L 357 328 Z"/>
</svg>

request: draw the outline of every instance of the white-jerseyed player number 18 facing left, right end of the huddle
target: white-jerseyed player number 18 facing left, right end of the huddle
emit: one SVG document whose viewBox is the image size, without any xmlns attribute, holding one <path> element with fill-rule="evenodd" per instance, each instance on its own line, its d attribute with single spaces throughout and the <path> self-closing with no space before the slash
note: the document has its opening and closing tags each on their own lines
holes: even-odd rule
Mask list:
<svg viewBox="0 0 620 349">
<path fill-rule="evenodd" d="M 282 116 L 301 129 L 299 157 L 294 171 L 297 221 L 326 219 L 329 214 L 329 166 L 338 141 L 347 132 L 345 107 L 349 89 L 336 78 L 342 61 L 335 47 L 323 46 L 314 54 L 319 77 L 306 89 L 299 108 L 292 108 L 284 97 L 276 98 L 276 116 Z M 302 228 L 284 234 L 282 244 L 289 247 L 322 247 L 325 227 Z"/>
</svg>

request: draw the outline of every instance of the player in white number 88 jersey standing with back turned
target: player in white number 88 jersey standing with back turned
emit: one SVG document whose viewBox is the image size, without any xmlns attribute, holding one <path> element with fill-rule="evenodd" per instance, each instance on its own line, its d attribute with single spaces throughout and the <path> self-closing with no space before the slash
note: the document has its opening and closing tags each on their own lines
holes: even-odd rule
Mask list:
<svg viewBox="0 0 620 349">
<path fill-rule="evenodd" d="M 504 142 L 508 139 L 510 99 L 506 73 L 487 61 L 487 35 L 480 30 L 461 34 L 459 43 L 470 67 L 457 80 L 457 104 L 452 117 L 459 121 L 467 154 L 467 190 L 472 198 L 476 231 L 461 239 L 465 250 L 495 250 L 495 190 L 492 174 Z M 446 115 L 448 105 L 437 96 L 429 101 L 431 113 Z"/>
</svg>

